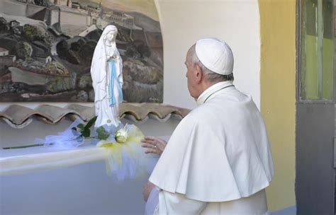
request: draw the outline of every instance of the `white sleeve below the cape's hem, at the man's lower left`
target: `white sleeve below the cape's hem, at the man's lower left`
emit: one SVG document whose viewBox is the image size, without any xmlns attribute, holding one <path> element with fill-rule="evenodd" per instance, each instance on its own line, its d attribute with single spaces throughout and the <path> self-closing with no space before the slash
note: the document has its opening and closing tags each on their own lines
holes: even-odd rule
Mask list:
<svg viewBox="0 0 336 215">
<path fill-rule="evenodd" d="M 200 214 L 207 202 L 187 199 L 184 194 L 161 190 L 159 192 L 159 214 Z"/>
</svg>

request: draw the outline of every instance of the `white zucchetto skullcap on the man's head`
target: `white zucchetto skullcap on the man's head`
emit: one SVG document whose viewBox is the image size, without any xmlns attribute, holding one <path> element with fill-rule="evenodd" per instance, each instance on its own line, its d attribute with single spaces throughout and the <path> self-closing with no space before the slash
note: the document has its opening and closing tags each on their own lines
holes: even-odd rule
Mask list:
<svg viewBox="0 0 336 215">
<path fill-rule="evenodd" d="M 233 73 L 233 52 L 226 42 L 217 38 L 205 38 L 196 42 L 196 55 L 211 71 L 229 75 Z"/>
</svg>

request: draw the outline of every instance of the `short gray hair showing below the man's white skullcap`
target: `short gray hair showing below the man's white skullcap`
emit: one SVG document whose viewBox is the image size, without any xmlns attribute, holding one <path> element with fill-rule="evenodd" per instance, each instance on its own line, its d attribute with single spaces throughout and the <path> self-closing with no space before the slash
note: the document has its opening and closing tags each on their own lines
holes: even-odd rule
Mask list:
<svg viewBox="0 0 336 215">
<path fill-rule="evenodd" d="M 218 73 L 215 73 L 214 71 L 211 71 L 210 69 L 206 68 L 202 64 L 202 62 L 198 59 L 196 50 L 195 50 L 196 45 L 193 45 L 190 50 L 189 50 L 189 59 L 191 60 L 191 64 L 193 65 L 198 65 L 201 67 L 201 70 L 203 72 L 203 75 L 206 76 L 206 79 L 211 82 L 218 82 L 218 81 L 233 81 L 233 73 L 229 75 L 221 75 Z"/>
</svg>

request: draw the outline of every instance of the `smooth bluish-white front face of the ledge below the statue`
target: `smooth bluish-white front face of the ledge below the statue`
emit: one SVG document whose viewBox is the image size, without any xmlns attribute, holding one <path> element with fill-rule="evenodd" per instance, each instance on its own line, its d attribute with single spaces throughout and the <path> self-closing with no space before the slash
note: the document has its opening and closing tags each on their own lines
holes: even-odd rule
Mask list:
<svg viewBox="0 0 336 215">
<path fill-rule="evenodd" d="M 144 214 L 147 175 L 116 182 L 105 163 L 0 177 L 0 214 Z"/>
</svg>

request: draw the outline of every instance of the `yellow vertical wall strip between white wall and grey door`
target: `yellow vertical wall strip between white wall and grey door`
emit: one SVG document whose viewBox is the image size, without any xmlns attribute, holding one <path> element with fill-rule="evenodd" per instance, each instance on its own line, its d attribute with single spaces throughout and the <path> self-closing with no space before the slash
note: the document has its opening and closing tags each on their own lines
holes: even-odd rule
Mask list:
<svg viewBox="0 0 336 215">
<path fill-rule="evenodd" d="M 271 141 L 275 175 L 269 210 L 295 204 L 296 1 L 259 0 L 261 111 Z"/>
</svg>

